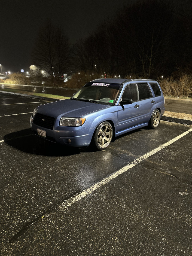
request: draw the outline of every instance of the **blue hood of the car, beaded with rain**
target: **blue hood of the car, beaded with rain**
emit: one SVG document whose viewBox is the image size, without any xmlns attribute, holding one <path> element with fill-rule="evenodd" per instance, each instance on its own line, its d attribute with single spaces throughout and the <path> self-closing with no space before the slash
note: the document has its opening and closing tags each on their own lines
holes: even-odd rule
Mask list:
<svg viewBox="0 0 192 256">
<path fill-rule="evenodd" d="M 67 99 L 38 106 L 37 109 L 39 114 L 60 119 L 62 116 L 83 117 L 86 114 L 108 107 L 108 105 Z"/>
</svg>

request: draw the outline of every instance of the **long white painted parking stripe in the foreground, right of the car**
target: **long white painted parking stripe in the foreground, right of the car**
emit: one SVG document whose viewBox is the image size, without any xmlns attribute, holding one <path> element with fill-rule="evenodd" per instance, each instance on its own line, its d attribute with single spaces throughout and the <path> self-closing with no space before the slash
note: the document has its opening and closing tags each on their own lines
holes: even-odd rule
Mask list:
<svg viewBox="0 0 192 256">
<path fill-rule="evenodd" d="M 136 159 L 135 161 L 127 164 L 126 166 L 124 166 L 123 168 L 121 168 L 120 170 L 118 170 L 117 172 L 112 173 L 111 175 L 109 175 L 108 177 L 102 179 L 101 181 L 97 182 L 96 184 L 90 186 L 89 188 L 86 188 L 85 190 L 81 191 L 80 193 L 78 193 L 75 196 L 70 197 L 69 199 L 66 199 L 62 204 L 59 205 L 60 209 L 66 209 L 69 206 L 71 206 L 72 204 L 74 204 L 75 202 L 80 201 L 81 199 L 89 196 L 90 194 L 92 194 L 95 190 L 97 190 L 98 188 L 102 187 L 103 185 L 107 184 L 109 181 L 111 181 L 112 179 L 116 178 L 117 176 L 125 173 L 127 170 L 131 169 L 132 167 L 136 166 L 138 163 L 141 163 L 143 160 L 147 159 L 148 157 L 154 155 L 155 153 L 157 153 L 158 151 L 162 150 L 163 148 L 166 148 L 167 146 L 169 146 L 170 144 L 174 143 L 175 141 L 177 141 L 178 139 L 181 139 L 183 136 L 187 135 L 188 133 L 192 132 L 192 129 L 187 130 L 186 132 L 182 133 L 181 135 L 175 137 L 174 139 L 162 144 L 161 146 L 159 146 L 158 148 L 148 152 L 147 154 L 139 157 L 138 159 Z"/>
</svg>

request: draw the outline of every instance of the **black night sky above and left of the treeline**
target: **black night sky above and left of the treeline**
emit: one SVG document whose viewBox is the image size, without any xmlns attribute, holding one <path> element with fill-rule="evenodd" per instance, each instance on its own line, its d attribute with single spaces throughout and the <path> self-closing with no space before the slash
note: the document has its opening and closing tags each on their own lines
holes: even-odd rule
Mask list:
<svg viewBox="0 0 192 256">
<path fill-rule="evenodd" d="M 2 71 L 27 71 L 31 51 L 42 25 L 61 25 L 70 43 L 86 38 L 107 17 L 136 0 L 1 0 L 0 64 Z"/>
</svg>

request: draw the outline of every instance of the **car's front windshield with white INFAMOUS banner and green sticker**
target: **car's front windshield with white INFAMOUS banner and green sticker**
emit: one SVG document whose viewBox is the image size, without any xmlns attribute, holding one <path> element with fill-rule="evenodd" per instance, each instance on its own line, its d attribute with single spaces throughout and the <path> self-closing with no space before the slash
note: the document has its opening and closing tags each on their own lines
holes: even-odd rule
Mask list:
<svg viewBox="0 0 192 256">
<path fill-rule="evenodd" d="M 121 87 L 122 84 L 90 82 L 75 93 L 71 99 L 115 105 Z"/>
</svg>

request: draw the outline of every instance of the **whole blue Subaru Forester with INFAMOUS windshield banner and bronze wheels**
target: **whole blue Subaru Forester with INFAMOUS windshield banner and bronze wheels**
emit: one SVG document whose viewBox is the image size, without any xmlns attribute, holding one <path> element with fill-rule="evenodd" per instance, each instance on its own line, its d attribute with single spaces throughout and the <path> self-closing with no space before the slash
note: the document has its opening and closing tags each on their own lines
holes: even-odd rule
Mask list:
<svg viewBox="0 0 192 256">
<path fill-rule="evenodd" d="M 32 131 L 52 142 L 105 149 L 115 137 L 159 125 L 164 97 L 155 80 L 96 79 L 71 99 L 38 106 L 30 118 Z"/>
</svg>

